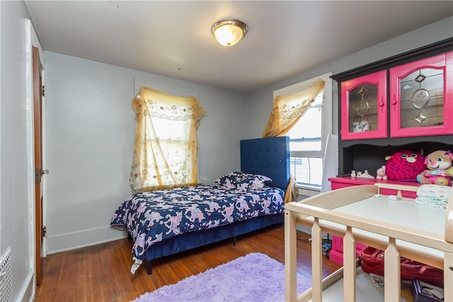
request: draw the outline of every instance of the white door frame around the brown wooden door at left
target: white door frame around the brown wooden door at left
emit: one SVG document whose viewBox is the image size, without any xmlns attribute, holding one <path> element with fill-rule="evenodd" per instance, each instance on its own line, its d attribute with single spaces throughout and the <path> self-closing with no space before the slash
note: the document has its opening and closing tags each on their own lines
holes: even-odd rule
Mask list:
<svg viewBox="0 0 453 302">
<path fill-rule="evenodd" d="M 26 62 L 28 71 L 26 74 L 26 120 L 27 120 L 27 166 L 28 166 L 28 181 L 27 181 L 27 189 L 28 189 L 28 204 L 29 208 L 33 209 L 33 211 L 29 211 L 28 218 L 30 221 L 30 228 L 28 236 L 28 250 L 29 250 L 29 259 L 30 259 L 30 270 L 33 272 L 33 281 L 35 281 L 35 265 L 36 265 L 36 258 L 35 253 L 35 139 L 34 139 L 34 112 L 33 112 L 33 47 L 37 47 L 40 53 L 40 64 L 42 65 L 42 85 L 45 84 L 45 60 L 44 60 L 44 51 L 40 45 L 38 35 L 35 33 L 35 29 L 33 28 L 33 24 L 30 20 L 25 20 L 25 54 L 26 54 Z M 46 158 L 45 158 L 45 98 L 42 98 L 42 166 L 46 167 Z M 45 196 L 47 194 L 47 185 L 45 178 L 42 178 L 42 195 Z M 43 198 L 42 202 L 42 226 L 46 226 L 47 219 L 46 219 L 46 209 L 47 205 L 45 202 L 45 198 Z M 47 238 L 43 238 L 42 241 L 42 257 L 47 255 Z"/>
</svg>

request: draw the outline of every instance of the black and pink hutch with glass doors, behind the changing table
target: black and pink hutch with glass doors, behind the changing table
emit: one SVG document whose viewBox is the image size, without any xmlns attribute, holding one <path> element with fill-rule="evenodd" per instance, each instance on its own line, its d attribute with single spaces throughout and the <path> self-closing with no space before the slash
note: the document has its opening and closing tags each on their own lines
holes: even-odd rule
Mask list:
<svg viewBox="0 0 453 302">
<path fill-rule="evenodd" d="M 332 76 L 338 83 L 338 175 L 332 190 L 394 182 L 373 176 L 385 158 L 408 149 L 453 150 L 453 37 Z M 401 182 L 399 182 L 401 183 Z M 405 185 L 420 185 L 415 180 Z M 396 194 L 383 190 L 383 194 Z M 403 192 L 415 198 L 415 192 Z M 372 209 L 370 209 L 372 210 Z M 364 248 L 356 244 L 357 255 Z M 333 236 L 331 260 L 343 264 L 343 238 Z"/>
</svg>

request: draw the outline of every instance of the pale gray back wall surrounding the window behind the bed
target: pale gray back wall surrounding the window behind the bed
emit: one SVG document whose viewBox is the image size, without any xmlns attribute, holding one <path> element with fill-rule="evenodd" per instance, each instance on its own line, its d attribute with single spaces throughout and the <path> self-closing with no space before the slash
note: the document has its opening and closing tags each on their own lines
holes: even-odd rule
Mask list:
<svg viewBox="0 0 453 302">
<path fill-rule="evenodd" d="M 134 79 L 200 92 L 200 182 L 240 168 L 241 93 L 55 52 L 45 52 L 45 61 L 47 252 L 125 236 L 109 223 L 131 194 Z"/>
</svg>

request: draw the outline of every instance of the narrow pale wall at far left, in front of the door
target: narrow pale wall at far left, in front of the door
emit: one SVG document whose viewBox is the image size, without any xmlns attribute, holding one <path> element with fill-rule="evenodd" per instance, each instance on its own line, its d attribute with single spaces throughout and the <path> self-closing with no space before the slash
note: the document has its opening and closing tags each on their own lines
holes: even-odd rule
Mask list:
<svg viewBox="0 0 453 302">
<path fill-rule="evenodd" d="M 25 86 L 29 75 L 25 18 L 29 17 L 22 1 L 0 1 L 0 13 L 0 254 L 11 247 L 13 301 L 31 301 L 33 192 L 28 183 L 34 176 L 28 165 L 30 103 Z"/>
</svg>

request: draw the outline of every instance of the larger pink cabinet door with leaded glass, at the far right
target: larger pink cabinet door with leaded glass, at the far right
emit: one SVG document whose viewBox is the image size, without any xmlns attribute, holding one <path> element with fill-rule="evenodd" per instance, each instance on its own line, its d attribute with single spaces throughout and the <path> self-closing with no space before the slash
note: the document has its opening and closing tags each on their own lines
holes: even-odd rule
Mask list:
<svg viewBox="0 0 453 302">
<path fill-rule="evenodd" d="M 390 136 L 453 133 L 453 52 L 390 69 Z"/>
</svg>

